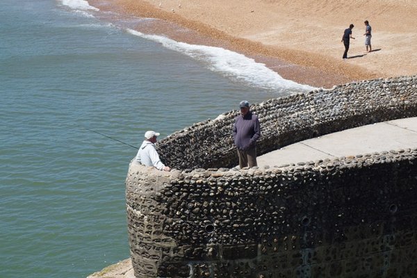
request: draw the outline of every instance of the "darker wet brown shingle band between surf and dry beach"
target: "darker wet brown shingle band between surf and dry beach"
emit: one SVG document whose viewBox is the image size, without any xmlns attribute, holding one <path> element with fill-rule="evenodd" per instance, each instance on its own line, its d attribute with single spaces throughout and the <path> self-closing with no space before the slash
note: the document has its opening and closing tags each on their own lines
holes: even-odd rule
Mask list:
<svg viewBox="0 0 417 278">
<path fill-rule="evenodd" d="M 284 51 L 286 55 L 277 55 L 277 51 L 270 49 L 259 42 L 253 42 L 243 38 L 235 38 L 201 22 L 184 19 L 175 13 L 160 10 L 149 3 L 131 0 L 108 0 L 104 3 L 99 0 L 89 0 L 92 6 L 100 10 L 116 12 L 120 17 L 145 17 L 153 18 L 147 24 L 138 24 L 133 29 L 141 33 L 165 35 L 172 40 L 186 42 L 188 44 L 202 44 L 211 47 L 222 47 L 253 58 L 257 63 L 263 63 L 266 67 L 277 72 L 284 79 L 313 87 L 332 88 L 334 85 L 352 81 L 342 73 L 335 73 L 311 65 L 300 65 L 286 58 L 291 56 L 291 51 Z M 359 76 L 357 80 L 359 79 Z M 375 78 L 376 76 L 367 76 Z"/>
</svg>

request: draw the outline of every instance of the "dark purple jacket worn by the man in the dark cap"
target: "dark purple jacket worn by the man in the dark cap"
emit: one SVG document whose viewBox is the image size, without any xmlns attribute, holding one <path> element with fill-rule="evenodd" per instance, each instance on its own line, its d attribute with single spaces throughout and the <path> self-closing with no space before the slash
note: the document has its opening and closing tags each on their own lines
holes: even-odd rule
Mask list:
<svg viewBox="0 0 417 278">
<path fill-rule="evenodd" d="M 233 138 L 236 147 L 246 151 L 256 147 L 256 140 L 261 137 L 261 125 L 258 117 L 249 111 L 245 116 L 238 115 L 233 125 Z"/>
</svg>

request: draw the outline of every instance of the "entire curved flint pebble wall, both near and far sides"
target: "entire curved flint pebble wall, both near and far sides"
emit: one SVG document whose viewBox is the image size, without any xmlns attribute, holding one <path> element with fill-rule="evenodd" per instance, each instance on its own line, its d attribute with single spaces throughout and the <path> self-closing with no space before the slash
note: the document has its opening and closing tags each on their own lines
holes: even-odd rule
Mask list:
<svg viewBox="0 0 417 278">
<path fill-rule="evenodd" d="M 265 101 L 252 108 L 263 131 L 258 150 L 414 117 L 416 84 L 416 76 L 379 79 Z M 234 117 L 161 140 L 163 159 L 179 170 L 131 163 L 136 277 L 416 277 L 417 146 L 229 169 Z"/>
</svg>

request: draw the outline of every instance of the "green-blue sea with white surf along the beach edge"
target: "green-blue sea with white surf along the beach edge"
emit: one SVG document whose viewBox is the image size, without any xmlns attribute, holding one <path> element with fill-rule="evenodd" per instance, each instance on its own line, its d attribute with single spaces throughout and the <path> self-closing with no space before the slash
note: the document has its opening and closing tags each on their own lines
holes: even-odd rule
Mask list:
<svg viewBox="0 0 417 278">
<path fill-rule="evenodd" d="M 100 13 L 83 0 L 1 1 L 2 278 L 86 277 L 129 257 L 124 179 L 136 149 L 116 140 L 139 146 L 149 129 L 163 138 L 242 99 L 310 89 Z"/>
</svg>

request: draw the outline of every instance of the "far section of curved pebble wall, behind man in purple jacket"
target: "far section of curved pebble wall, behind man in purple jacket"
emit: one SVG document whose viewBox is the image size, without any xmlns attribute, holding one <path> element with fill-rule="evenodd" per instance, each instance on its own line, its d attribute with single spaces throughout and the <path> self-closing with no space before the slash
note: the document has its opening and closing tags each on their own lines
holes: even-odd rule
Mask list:
<svg viewBox="0 0 417 278">
<path fill-rule="evenodd" d="M 262 136 L 258 155 L 327 133 L 416 116 L 417 76 L 377 79 L 314 90 L 251 106 Z M 159 142 L 161 159 L 176 169 L 238 165 L 231 129 L 238 111 L 172 133 Z"/>
</svg>

